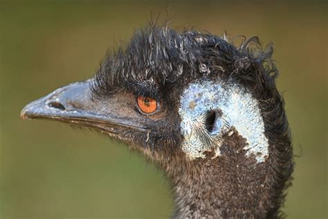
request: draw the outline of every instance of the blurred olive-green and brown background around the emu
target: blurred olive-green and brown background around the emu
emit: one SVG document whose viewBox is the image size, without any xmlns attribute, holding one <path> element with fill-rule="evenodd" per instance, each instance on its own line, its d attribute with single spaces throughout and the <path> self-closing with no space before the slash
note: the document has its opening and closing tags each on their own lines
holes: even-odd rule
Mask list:
<svg viewBox="0 0 328 219">
<path fill-rule="evenodd" d="M 126 146 L 50 121 L 26 103 L 84 80 L 108 48 L 169 1 L 1 1 L 1 218 L 167 218 L 163 173 Z M 296 167 L 288 218 L 327 218 L 327 3 L 171 1 L 174 28 L 273 42 Z"/>
</svg>

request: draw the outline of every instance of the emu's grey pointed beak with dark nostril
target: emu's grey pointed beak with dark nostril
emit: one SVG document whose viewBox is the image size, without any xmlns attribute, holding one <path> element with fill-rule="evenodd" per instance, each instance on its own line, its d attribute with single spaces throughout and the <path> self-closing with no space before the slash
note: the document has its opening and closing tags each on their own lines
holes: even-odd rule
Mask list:
<svg viewBox="0 0 328 219">
<path fill-rule="evenodd" d="M 145 132 L 134 115 L 122 109 L 117 98 L 93 98 L 92 80 L 76 82 L 26 105 L 22 119 L 51 119 L 98 128 L 118 134 L 122 128 Z"/>
</svg>

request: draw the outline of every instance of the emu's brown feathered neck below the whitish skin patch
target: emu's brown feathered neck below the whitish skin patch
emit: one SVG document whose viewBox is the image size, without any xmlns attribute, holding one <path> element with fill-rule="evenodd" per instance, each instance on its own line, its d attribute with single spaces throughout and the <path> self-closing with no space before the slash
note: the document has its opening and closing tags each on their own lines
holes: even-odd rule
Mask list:
<svg viewBox="0 0 328 219">
<path fill-rule="evenodd" d="M 274 190 L 271 159 L 257 163 L 242 148 L 244 139 L 233 134 L 222 144 L 218 157 L 214 152 L 192 161 L 179 156 L 162 165 L 172 180 L 176 218 L 277 216 L 279 204 L 273 198 L 281 194 Z"/>
</svg>

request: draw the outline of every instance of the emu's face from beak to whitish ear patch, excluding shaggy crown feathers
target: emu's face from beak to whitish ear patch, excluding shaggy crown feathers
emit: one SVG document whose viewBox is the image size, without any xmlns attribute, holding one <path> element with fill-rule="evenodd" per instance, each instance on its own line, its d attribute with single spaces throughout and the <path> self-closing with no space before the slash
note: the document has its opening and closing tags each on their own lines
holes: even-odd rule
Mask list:
<svg viewBox="0 0 328 219">
<path fill-rule="evenodd" d="M 191 160 L 205 158 L 207 152 L 217 157 L 224 138 L 234 132 L 246 139 L 246 155 L 259 162 L 268 156 L 257 100 L 233 82 L 202 79 L 182 89 L 134 82 L 100 95 L 96 80 L 57 89 L 21 114 L 95 128 L 155 159 L 172 153 Z"/>
</svg>

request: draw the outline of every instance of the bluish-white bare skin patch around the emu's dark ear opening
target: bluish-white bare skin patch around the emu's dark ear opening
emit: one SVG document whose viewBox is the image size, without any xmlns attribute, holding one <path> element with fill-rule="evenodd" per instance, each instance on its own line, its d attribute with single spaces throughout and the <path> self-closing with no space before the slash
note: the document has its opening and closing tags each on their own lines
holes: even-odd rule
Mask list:
<svg viewBox="0 0 328 219">
<path fill-rule="evenodd" d="M 217 113 L 209 132 L 206 118 L 210 111 Z M 203 152 L 210 148 L 215 148 L 219 155 L 221 137 L 232 127 L 246 139 L 247 156 L 255 155 L 257 162 L 265 161 L 268 156 L 268 139 L 259 105 L 242 87 L 207 80 L 192 83 L 183 91 L 179 115 L 184 137 L 182 149 L 191 159 L 205 157 Z"/>
</svg>

